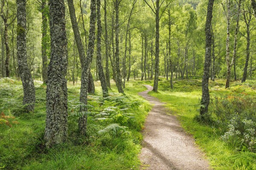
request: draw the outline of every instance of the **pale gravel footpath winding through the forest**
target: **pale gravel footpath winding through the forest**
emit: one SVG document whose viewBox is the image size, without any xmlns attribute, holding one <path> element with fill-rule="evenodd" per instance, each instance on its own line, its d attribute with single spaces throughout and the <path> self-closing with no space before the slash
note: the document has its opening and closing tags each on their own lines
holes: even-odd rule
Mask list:
<svg viewBox="0 0 256 170">
<path fill-rule="evenodd" d="M 148 113 L 143 130 L 143 148 L 140 154 L 142 170 L 208 170 L 209 163 L 186 134 L 179 121 L 164 108 L 164 103 L 150 96 L 153 87 L 140 92 L 153 108 Z"/>
</svg>

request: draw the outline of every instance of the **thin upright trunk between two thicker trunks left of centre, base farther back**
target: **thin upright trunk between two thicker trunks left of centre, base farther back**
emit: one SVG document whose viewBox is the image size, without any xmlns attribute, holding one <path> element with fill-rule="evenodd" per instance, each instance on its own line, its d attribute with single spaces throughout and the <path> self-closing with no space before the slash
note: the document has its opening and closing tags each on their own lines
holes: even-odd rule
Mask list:
<svg viewBox="0 0 256 170">
<path fill-rule="evenodd" d="M 108 23 L 107 23 L 107 0 L 104 0 L 104 22 L 105 22 L 105 53 L 106 53 L 106 83 L 108 88 L 111 88 L 110 86 L 110 76 L 109 76 L 109 66 L 108 66 Z"/>
</svg>

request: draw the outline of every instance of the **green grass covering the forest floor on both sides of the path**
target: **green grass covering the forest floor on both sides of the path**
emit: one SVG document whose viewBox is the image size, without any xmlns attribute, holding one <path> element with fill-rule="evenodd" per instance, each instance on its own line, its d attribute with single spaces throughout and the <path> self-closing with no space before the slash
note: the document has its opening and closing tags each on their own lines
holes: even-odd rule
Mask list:
<svg viewBox="0 0 256 170">
<path fill-rule="evenodd" d="M 89 104 L 97 112 L 109 106 L 128 108 L 135 113 L 134 119 L 126 120 L 119 115 L 122 126 L 128 127 L 128 133 L 104 133 L 98 131 L 111 123 L 96 121 L 92 114 L 88 118 L 87 137 L 77 133 L 77 118 L 69 117 L 69 137 L 64 144 L 51 149 L 44 147 L 44 127 L 46 118 L 46 85 L 35 82 L 36 105 L 34 113 L 24 113 L 22 107 L 22 84 L 12 79 L 0 79 L 0 112 L 16 117 L 18 124 L 12 127 L 0 124 L 0 169 L 6 170 L 132 170 L 138 169 L 143 136 L 141 130 L 150 105 L 137 93 L 146 90 L 144 84 L 153 85 L 153 81 L 130 81 L 126 83 L 125 95 L 118 94 L 113 82 L 109 90 L 110 99 L 101 97 L 99 82 L 95 82 L 96 94 L 89 95 Z M 256 81 L 241 84 L 232 82 L 229 89 L 224 88 L 225 81 L 217 79 L 209 83 L 211 96 L 253 96 L 256 95 Z M 194 136 L 196 143 L 206 153 L 211 167 L 215 170 L 233 169 L 227 158 L 240 153 L 220 139 L 221 128 L 212 124 L 195 121 L 201 98 L 201 81 L 198 79 L 174 80 L 174 89 L 169 82 L 159 81 L 159 92 L 149 94 L 166 103 L 170 114 L 177 116 L 186 132 Z M 72 101 L 79 100 L 80 83 L 73 86 L 68 82 L 69 107 Z M 135 105 L 133 105 L 135 103 Z M 10 120 L 11 121 L 11 120 Z"/>
</svg>

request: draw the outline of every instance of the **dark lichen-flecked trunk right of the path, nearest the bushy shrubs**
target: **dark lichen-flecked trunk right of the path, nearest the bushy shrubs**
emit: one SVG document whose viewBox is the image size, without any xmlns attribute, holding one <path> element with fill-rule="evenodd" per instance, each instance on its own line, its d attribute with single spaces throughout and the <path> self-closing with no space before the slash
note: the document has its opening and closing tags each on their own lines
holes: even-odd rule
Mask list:
<svg viewBox="0 0 256 170">
<path fill-rule="evenodd" d="M 207 7 L 207 17 L 205 23 L 205 59 L 204 59 L 204 74 L 202 79 L 202 99 L 201 99 L 201 108 L 200 115 L 203 116 L 208 112 L 208 105 L 210 101 L 209 95 L 209 70 L 211 62 L 211 47 L 212 47 L 212 33 L 211 33 L 211 23 L 212 23 L 212 8 L 214 0 L 209 0 Z"/>
</svg>

